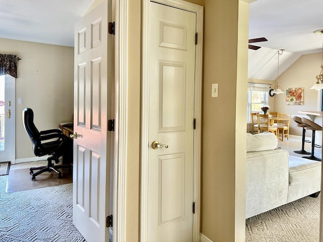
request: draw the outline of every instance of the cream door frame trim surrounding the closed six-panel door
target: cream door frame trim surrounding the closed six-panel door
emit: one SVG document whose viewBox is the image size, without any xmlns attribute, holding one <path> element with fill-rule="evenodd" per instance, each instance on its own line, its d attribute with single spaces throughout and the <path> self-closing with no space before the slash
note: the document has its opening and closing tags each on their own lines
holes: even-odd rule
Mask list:
<svg viewBox="0 0 323 242">
<path fill-rule="evenodd" d="M 201 200 L 201 111 L 202 111 L 202 48 L 203 48 L 203 6 L 182 0 L 144 0 L 142 12 L 142 111 L 141 111 L 141 201 L 140 201 L 140 241 L 148 241 L 148 127 L 149 123 L 149 2 L 155 2 L 170 7 L 190 11 L 196 14 L 196 32 L 198 43 L 195 52 L 195 84 L 194 84 L 194 156 L 193 156 L 193 241 L 199 241 L 200 236 L 200 200 Z M 192 202 L 193 202 L 192 201 Z"/>
</svg>

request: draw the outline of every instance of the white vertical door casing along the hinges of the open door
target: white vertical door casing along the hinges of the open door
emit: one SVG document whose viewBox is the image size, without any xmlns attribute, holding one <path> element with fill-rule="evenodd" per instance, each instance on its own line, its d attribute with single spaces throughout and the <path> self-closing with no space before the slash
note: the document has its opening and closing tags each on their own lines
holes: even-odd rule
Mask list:
<svg viewBox="0 0 323 242">
<path fill-rule="evenodd" d="M 128 0 L 115 1 L 115 150 L 113 241 L 126 241 Z M 115 159 L 115 160 L 116 160 Z"/>
</svg>

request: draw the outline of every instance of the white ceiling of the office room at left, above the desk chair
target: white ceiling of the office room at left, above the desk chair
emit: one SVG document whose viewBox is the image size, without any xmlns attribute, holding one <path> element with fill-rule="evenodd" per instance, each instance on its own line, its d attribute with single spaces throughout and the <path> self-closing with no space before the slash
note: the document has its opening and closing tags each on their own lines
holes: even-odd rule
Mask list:
<svg viewBox="0 0 323 242">
<path fill-rule="evenodd" d="M 0 0 L 0 37 L 74 46 L 74 24 L 93 0 Z"/>
</svg>

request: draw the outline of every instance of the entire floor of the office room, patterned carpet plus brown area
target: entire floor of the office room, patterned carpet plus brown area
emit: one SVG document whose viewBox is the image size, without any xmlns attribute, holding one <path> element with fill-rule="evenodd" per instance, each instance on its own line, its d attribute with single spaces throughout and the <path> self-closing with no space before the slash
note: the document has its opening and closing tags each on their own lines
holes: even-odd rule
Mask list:
<svg viewBox="0 0 323 242">
<path fill-rule="evenodd" d="M 58 179 L 45 172 L 31 180 L 28 167 L 45 164 L 14 164 L 0 176 L 0 242 L 86 242 L 72 222 L 72 174 Z"/>
</svg>

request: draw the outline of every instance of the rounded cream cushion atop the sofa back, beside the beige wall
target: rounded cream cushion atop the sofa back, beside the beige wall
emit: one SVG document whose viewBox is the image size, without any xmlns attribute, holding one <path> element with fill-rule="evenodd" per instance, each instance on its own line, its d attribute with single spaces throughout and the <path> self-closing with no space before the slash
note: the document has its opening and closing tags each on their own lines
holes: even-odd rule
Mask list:
<svg viewBox="0 0 323 242">
<path fill-rule="evenodd" d="M 277 137 L 271 132 L 255 135 L 247 133 L 247 152 L 274 150 L 277 144 Z"/>
</svg>

